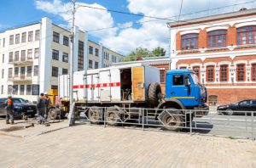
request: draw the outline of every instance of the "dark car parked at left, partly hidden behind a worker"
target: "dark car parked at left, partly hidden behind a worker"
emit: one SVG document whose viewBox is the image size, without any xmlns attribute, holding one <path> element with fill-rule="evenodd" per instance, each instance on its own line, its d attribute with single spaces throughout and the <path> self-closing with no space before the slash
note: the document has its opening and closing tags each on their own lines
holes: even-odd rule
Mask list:
<svg viewBox="0 0 256 168">
<path fill-rule="evenodd" d="M 5 102 L 7 98 L 0 98 L 0 116 L 6 115 Z M 20 117 L 22 114 L 27 116 L 35 116 L 37 114 L 37 107 L 34 104 L 29 104 L 23 98 L 12 98 L 14 103 L 15 117 Z"/>
</svg>

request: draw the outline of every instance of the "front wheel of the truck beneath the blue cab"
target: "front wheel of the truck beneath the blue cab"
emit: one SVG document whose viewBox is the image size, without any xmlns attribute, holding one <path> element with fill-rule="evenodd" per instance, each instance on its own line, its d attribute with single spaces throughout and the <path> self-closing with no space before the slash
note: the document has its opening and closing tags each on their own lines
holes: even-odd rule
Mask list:
<svg viewBox="0 0 256 168">
<path fill-rule="evenodd" d="M 160 120 L 163 122 L 166 130 L 178 132 L 184 126 L 185 116 L 178 109 L 169 111 L 166 109 L 160 114 Z"/>
</svg>

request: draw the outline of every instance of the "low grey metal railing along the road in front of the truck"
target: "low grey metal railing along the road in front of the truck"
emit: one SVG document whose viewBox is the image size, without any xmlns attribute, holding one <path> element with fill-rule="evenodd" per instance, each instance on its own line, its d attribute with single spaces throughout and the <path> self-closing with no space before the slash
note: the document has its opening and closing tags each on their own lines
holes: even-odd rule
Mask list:
<svg viewBox="0 0 256 168">
<path fill-rule="evenodd" d="M 102 126 L 123 126 L 142 130 L 184 132 L 255 139 L 255 111 L 198 111 L 182 109 L 142 109 L 77 107 L 80 121 Z"/>
</svg>

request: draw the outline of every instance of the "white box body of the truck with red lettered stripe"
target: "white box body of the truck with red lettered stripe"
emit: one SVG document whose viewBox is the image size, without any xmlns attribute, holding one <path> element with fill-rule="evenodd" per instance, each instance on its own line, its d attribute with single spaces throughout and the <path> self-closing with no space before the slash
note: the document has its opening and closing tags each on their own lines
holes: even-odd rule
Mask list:
<svg viewBox="0 0 256 168">
<path fill-rule="evenodd" d="M 160 70 L 147 64 L 129 64 L 73 74 L 73 98 L 84 103 L 144 102 L 152 82 L 160 83 Z M 59 96 L 69 98 L 68 75 L 59 76 Z"/>
</svg>

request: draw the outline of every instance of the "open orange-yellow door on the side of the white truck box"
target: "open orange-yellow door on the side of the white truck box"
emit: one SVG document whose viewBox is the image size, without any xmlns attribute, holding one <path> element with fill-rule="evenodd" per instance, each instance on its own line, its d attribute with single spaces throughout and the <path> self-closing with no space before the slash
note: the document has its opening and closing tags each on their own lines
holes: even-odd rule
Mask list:
<svg viewBox="0 0 256 168">
<path fill-rule="evenodd" d="M 133 101 L 145 101 L 143 66 L 132 68 L 132 93 Z"/>
</svg>

